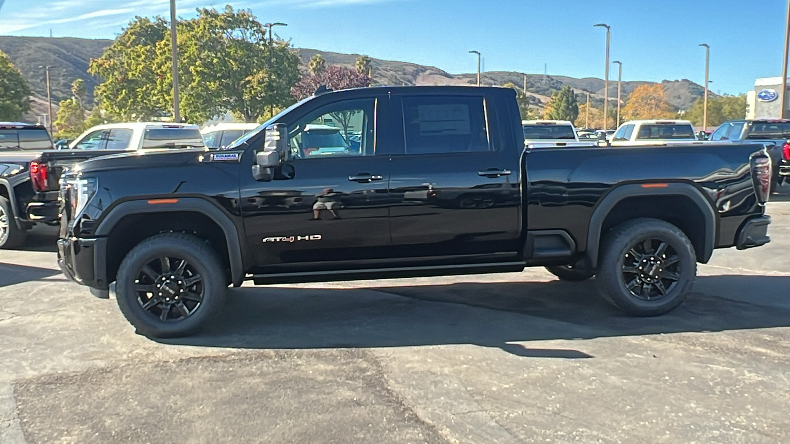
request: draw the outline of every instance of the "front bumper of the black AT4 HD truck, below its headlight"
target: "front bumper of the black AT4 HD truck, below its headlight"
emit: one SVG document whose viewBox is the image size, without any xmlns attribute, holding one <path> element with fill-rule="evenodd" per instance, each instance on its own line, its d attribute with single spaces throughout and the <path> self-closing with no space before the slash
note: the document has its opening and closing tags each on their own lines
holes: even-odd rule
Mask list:
<svg viewBox="0 0 790 444">
<path fill-rule="evenodd" d="M 98 290 L 103 294 L 109 288 L 107 265 L 104 260 L 106 251 L 107 239 L 104 238 L 58 239 L 58 265 L 70 280 L 77 282 L 77 284 L 87 285 L 92 288 L 91 292 Z"/>
</svg>

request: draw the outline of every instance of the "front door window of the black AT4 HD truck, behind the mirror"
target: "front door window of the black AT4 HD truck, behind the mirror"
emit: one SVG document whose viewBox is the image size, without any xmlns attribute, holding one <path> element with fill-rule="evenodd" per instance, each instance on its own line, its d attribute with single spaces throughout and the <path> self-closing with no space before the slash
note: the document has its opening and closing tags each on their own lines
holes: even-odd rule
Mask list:
<svg viewBox="0 0 790 444">
<path fill-rule="evenodd" d="M 293 159 L 373 156 L 375 99 L 345 100 L 310 112 L 289 128 Z"/>
</svg>

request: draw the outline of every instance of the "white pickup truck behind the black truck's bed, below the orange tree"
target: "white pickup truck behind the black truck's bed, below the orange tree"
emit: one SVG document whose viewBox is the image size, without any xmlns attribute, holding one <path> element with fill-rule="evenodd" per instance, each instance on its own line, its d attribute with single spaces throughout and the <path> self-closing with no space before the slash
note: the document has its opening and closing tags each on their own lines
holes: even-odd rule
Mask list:
<svg viewBox="0 0 790 444">
<path fill-rule="evenodd" d="M 630 120 L 611 137 L 612 146 L 672 145 L 697 141 L 688 120 Z"/>
</svg>

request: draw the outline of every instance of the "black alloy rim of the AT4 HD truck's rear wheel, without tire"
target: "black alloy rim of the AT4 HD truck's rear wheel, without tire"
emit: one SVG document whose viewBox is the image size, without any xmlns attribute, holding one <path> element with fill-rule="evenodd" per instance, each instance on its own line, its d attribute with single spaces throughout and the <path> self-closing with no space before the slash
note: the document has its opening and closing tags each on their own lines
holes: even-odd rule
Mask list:
<svg viewBox="0 0 790 444">
<path fill-rule="evenodd" d="M 645 301 L 664 298 L 680 279 L 679 256 L 661 239 L 645 239 L 628 250 L 623 258 L 626 289 Z"/>
</svg>

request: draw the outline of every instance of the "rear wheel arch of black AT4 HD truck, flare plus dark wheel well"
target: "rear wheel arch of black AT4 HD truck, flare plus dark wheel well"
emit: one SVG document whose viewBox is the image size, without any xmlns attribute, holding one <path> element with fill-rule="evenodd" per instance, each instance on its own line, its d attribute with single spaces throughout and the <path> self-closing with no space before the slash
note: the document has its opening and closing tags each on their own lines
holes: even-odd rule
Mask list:
<svg viewBox="0 0 790 444">
<path fill-rule="evenodd" d="M 634 201 L 673 201 L 678 206 L 669 213 L 656 213 L 656 208 L 660 207 L 623 212 L 624 207 Z M 619 220 L 619 217 L 626 218 Z M 717 234 L 716 213 L 695 186 L 685 182 L 661 183 L 660 186 L 631 183 L 611 190 L 592 213 L 587 233 L 586 256 L 593 268 L 598 266 L 600 241 L 604 231 L 611 228 L 612 224 L 635 217 L 653 217 L 677 225 L 694 245 L 698 262 L 708 262 L 713 254 Z"/>
</svg>

